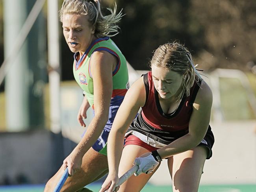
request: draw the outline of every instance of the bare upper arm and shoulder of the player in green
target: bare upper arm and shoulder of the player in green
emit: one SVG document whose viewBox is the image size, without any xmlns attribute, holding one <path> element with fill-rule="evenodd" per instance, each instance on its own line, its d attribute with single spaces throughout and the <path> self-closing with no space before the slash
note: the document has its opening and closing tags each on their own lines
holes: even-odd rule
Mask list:
<svg viewBox="0 0 256 192">
<path fill-rule="evenodd" d="M 108 118 L 113 92 L 112 68 L 115 63 L 115 57 L 105 51 L 94 52 L 91 57 L 95 116 L 101 115 Z"/>
</svg>

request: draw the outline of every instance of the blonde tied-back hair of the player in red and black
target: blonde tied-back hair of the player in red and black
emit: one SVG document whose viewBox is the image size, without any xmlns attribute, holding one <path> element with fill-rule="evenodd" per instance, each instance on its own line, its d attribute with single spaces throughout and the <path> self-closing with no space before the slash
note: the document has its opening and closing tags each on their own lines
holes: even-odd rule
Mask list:
<svg viewBox="0 0 256 192">
<path fill-rule="evenodd" d="M 182 91 L 178 99 L 181 99 L 184 94 L 189 96 L 190 88 L 194 82 L 201 79 L 195 69 L 190 52 L 182 44 L 178 42 L 165 43 L 159 46 L 150 61 L 150 66 L 167 68 L 184 76 L 182 81 Z"/>
</svg>

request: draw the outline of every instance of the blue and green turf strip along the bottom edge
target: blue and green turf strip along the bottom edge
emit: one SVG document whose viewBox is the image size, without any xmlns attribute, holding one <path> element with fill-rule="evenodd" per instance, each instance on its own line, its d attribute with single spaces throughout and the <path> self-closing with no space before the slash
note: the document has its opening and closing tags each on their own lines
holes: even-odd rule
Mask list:
<svg viewBox="0 0 256 192">
<path fill-rule="evenodd" d="M 43 185 L 0 186 L 0 192 L 43 192 Z M 100 190 L 100 185 L 88 186 L 93 192 Z M 198 192 L 255 192 L 254 185 L 202 185 Z M 171 186 L 154 186 L 147 184 L 141 192 L 172 192 Z"/>
</svg>

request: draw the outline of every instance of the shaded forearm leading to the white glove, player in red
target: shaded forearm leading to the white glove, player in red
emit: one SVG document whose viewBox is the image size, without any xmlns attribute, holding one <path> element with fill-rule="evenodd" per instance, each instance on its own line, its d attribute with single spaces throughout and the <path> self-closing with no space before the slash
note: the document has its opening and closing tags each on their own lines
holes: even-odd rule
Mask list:
<svg viewBox="0 0 256 192">
<path fill-rule="evenodd" d="M 162 159 L 170 157 L 172 155 L 176 155 L 178 153 L 182 153 L 184 151 L 190 150 L 196 147 L 200 143 L 200 140 L 193 135 L 184 135 L 171 142 L 171 144 L 158 149 L 158 153 Z"/>
</svg>

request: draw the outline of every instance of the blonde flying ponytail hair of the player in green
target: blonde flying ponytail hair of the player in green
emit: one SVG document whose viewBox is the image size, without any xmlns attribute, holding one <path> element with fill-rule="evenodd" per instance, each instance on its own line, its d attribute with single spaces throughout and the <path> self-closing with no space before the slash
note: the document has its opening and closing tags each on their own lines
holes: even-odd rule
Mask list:
<svg viewBox="0 0 256 192">
<path fill-rule="evenodd" d="M 95 37 L 113 37 L 119 33 L 119 26 L 115 23 L 122 18 L 122 10 L 117 13 L 117 5 L 114 9 L 107 8 L 110 15 L 103 16 L 98 0 L 64 0 L 59 10 L 60 21 L 64 14 L 88 15 L 88 21 L 95 27 Z M 114 34 L 111 34 L 114 33 Z"/>
</svg>

